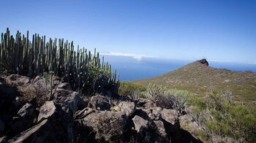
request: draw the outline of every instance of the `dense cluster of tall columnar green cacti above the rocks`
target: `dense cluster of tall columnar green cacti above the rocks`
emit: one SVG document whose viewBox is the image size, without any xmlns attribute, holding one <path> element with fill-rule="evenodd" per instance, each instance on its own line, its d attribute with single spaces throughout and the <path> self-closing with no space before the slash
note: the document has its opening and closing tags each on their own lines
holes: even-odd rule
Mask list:
<svg viewBox="0 0 256 143">
<path fill-rule="evenodd" d="M 119 86 L 116 71 L 111 71 L 104 57 L 100 61 L 96 49 L 94 54 L 79 45 L 75 50 L 73 42 L 51 38 L 47 42 L 39 34 L 34 34 L 30 41 L 29 31 L 26 36 L 18 31 L 14 37 L 8 28 L 1 33 L 0 71 L 3 70 L 29 77 L 53 73 L 86 94 Z"/>
</svg>

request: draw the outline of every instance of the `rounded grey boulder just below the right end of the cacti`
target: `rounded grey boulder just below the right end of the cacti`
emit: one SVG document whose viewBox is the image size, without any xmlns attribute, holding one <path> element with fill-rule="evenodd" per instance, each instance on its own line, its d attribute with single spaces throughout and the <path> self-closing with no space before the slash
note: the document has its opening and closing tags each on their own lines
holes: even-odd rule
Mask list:
<svg viewBox="0 0 256 143">
<path fill-rule="evenodd" d="M 97 95 L 91 97 L 91 101 L 89 101 L 88 107 L 104 111 L 110 110 L 111 105 L 105 96 Z"/>
</svg>

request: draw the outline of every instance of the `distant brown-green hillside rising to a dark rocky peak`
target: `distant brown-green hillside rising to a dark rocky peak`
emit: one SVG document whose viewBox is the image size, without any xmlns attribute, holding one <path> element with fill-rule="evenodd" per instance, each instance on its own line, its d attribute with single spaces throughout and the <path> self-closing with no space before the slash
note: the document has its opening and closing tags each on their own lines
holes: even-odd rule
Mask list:
<svg viewBox="0 0 256 143">
<path fill-rule="evenodd" d="M 231 71 L 215 69 L 202 59 L 157 77 L 131 82 L 148 85 L 149 82 L 190 90 L 203 96 L 208 90 L 231 90 L 236 99 L 256 100 L 256 73 L 252 71 Z"/>
</svg>

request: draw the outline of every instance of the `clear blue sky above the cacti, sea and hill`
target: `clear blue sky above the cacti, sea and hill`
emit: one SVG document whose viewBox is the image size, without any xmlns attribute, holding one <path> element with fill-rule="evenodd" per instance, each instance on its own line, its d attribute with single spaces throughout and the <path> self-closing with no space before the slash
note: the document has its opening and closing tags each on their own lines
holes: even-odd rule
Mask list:
<svg viewBox="0 0 256 143">
<path fill-rule="evenodd" d="M 0 1 L 9 27 L 101 53 L 256 63 L 256 1 Z"/>
</svg>

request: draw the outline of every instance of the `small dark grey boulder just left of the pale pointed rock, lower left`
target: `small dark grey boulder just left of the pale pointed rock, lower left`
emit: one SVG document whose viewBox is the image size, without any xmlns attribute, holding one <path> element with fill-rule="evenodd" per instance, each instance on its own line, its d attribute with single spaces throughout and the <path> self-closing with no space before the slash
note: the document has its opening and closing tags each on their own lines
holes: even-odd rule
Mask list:
<svg viewBox="0 0 256 143">
<path fill-rule="evenodd" d="M 34 117 L 35 109 L 32 104 L 26 103 L 23 107 L 18 111 L 17 115 L 20 117 Z"/>
</svg>

